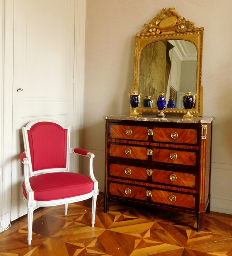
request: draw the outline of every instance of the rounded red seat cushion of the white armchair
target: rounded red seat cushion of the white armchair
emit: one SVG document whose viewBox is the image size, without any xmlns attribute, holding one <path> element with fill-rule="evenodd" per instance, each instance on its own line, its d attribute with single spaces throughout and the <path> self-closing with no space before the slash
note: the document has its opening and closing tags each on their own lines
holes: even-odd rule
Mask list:
<svg viewBox="0 0 232 256">
<path fill-rule="evenodd" d="M 83 174 L 74 172 L 52 172 L 29 178 L 34 191 L 34 200 L 49 201 L 80 196 L 94 190 L 94 182 Z M 25 184 L 23 194 L 27 198 Z"/>
</svg>

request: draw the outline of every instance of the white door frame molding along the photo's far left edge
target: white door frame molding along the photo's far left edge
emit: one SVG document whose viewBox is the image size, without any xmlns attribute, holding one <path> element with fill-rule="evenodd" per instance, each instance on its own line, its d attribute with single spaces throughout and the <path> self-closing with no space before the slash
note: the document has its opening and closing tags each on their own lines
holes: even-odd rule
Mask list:
<svg viewBox="0 0 232 256">
<path fill-rule="evenodd" d="M 13 46 L 14 0 L 3 0 L 3 79 L 2 79 L 2 220 L 1 230 L 10 224 L 12 172 L 12 114 L 13 114 Z M 3 229 L 2 229 L 3 228 Z"/>
</svg>

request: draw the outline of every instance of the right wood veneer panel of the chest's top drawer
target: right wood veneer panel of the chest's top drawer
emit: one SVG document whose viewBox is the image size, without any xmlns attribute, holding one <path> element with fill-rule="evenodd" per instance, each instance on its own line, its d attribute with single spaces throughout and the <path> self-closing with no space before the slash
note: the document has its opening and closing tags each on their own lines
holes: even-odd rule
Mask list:
<svg viewBox="0 0 232 256">
<path fill-rule="evenodd" d="M 159 142 L 197 144 L 197 130 L 155 127 L 153 128 L 153 140 Z"/>
</svg>

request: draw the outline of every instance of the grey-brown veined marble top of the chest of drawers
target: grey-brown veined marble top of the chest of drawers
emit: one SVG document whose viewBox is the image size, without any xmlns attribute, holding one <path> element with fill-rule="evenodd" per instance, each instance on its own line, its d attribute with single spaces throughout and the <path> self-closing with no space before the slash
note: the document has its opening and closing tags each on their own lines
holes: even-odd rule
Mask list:
<svg viewBox="0 0 232 256">
<path fill-rule="evenodd" d="M 211 123 L 215 118 L 212 116 L 193 116 L 192 118 L 183 118 L 183 116 L 165 116 L 159 117 L 155 114 L 140 114 L 136 117 L 130 114 L 118 114 L 104 116 L 104 119 L 111 120 L 135 120 L 135 121 L 151 121 L 151 122 L 172 122 L 172 123 Z"/>
</svg>

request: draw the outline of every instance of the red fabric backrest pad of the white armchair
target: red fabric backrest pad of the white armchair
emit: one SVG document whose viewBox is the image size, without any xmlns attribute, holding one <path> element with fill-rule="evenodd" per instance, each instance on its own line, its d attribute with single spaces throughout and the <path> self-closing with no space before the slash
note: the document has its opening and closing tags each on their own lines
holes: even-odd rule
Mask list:
<svg viewBox="0 0 232 256">
<path fill-rule="evenodd" d="M 36 123 L 27 131 L 32 171 L 66 168 L 67 129 L 51 122 Z"/>
</svg>

